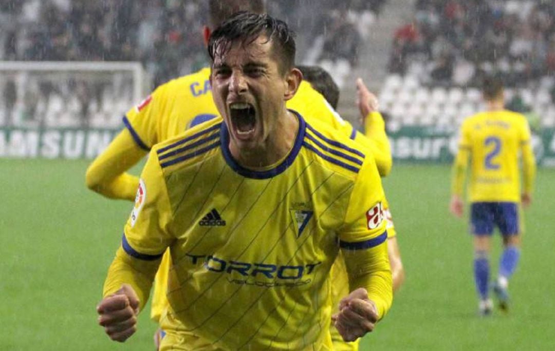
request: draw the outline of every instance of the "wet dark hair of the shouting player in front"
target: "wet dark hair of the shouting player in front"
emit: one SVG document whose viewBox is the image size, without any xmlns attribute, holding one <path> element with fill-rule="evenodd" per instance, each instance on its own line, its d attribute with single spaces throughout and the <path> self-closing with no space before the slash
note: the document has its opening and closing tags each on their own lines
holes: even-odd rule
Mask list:
<svg viewBox="0 0 555 351">
<path fill-rule="evenodd" d="M 295 33 L 287 24 L 268 14 L 239 12 L 214 29 L 208 40 L 208 55 L 212 62 L 225 55 L 231 45 L 240 42 L 244 47 L 265 35 L 271 42 L 272 54 L 278 57 L 281 74 L 295 66 Z"/>
</svg>

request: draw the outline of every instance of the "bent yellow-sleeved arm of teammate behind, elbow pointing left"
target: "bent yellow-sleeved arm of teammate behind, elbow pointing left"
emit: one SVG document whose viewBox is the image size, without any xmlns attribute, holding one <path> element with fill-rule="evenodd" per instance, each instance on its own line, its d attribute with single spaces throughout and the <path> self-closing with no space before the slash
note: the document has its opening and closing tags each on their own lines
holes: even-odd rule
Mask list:
<svg viewBox="0 0 555 351">
<path fill-rule="evenodd" d="M 135 200 L 139 177 L 125 171 L 146 154 L 147 151 L 135 143 L 129 130 L 122 130 L 88 167 L 85 175 L 87 187 L 110 199 Z"/>
</svg>

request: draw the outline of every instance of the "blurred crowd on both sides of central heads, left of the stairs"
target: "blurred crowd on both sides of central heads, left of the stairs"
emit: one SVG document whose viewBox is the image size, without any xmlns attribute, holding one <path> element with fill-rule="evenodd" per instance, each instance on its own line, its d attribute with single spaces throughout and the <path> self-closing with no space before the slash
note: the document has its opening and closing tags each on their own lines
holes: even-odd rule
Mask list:
<svg viewBox="0 0 555 351">
<path fill-rule="evenodd" d="M 302 43 L 325 33 L 321 55 L 356 62 L 360 34 L 347 13 L 384 0 L 269 1 Z M 152 85 L 206 64 L 202 0 L 0 0 L 0 60 L 140 60 Z"/>
</svg>

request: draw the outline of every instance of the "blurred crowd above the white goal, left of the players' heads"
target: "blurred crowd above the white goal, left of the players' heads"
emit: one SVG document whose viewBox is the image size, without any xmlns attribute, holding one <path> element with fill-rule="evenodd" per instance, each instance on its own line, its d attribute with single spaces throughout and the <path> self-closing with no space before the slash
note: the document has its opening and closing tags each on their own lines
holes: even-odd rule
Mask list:
<svg viewBox="0 0 555 351">
<path fill-rule="evenodd" d="M 140 60 L 165 82 L 204 60 L 201 0 L 0 0 L 0 59 Z"/>
</svg>

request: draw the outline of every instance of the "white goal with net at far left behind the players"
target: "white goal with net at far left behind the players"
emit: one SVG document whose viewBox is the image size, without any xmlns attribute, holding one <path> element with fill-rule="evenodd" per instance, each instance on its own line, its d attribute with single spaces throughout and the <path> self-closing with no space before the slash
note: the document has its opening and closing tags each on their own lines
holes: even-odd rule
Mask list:
<svg viewBox="0 0 555 351">
<path fill-rule="evenodd" d="M 0 127 L 114 128 L 144 78 L 139 62 L 0 62 Z"/>
</svg>

